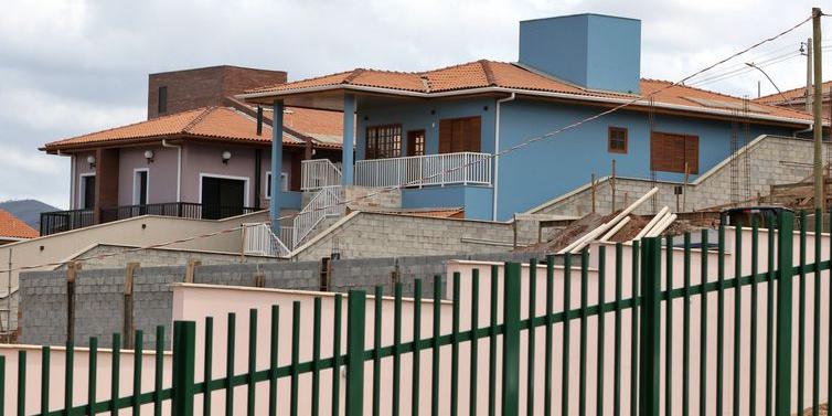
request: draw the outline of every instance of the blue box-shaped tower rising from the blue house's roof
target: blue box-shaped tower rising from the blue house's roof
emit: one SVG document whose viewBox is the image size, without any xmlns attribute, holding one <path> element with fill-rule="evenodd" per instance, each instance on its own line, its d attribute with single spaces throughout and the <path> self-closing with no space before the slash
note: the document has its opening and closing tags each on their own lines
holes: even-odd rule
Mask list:
<svg viewBox="0 0 832 416">
<path fill-rule="evenodd" d="M 638 94 L 641 21 L 591 13 L 525 20 L 519 62 L 589 89 Z"/>
</svg>

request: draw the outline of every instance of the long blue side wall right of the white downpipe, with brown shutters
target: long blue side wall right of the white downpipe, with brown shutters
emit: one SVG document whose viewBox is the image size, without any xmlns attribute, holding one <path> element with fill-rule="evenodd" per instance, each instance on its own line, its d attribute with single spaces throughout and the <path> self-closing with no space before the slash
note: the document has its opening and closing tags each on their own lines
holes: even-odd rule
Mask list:
<svg viewBox="0 0 832 416">
<path fill-rule="evenodd" d="M 506 149 L 599 111 L 588 106 L 568 106 L 518 99 L 501 107 L 500 148 Z M 607 151 L 609 126 L 629 130 L 628 153 Z M 654 130 L 700 137 L 700 171 L 705 173 L 730 154 L 732 126 L 727 121 L 657 115 Z M 791 130 L 751 126 L 749 140 L 761 134 L 791 135 Z M 647 113 L 618 111 L 576 129 L 537 141 L 500 158 L 498 220 L 526 211 L 598 177 L 610 174 L 612 159 L 620 177 L 650 178 L 650 124 Z M 682 181 L 683 174 L 658 172 L 657 179 Z M 692 174 L 691 180 L 697 178 Z"/>
</svg>

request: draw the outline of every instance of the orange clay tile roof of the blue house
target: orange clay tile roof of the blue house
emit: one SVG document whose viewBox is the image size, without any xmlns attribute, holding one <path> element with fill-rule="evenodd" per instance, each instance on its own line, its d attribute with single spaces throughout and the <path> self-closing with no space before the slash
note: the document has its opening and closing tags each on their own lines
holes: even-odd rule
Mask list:
<svg viewBox="0 0 832 416">
<path fill-rule="evenodd" d="M 650 94 L 657 105 L 672 105 L 687 111 L 732 111 L 743 108 L 744 99 L 725 94 L 658 79 L 641 79 L 640 94 L 625 94 L 584 88 L 555 77 L 538 73 L 519 64 L 480 60 L 460 65 L 425 72 L 390 72 L 356 68 L 350 72 L 326 75 L 247 90 L 243 97 L 292 95 L 326 89 L 367 87 L 387 94 L 418 95 L 430 97 L 458 92 L 465 94 L 474 88 L 497 87 L 519 93 L 556 93 L 562 98 L 588 99 L 614 98 L 628 100 Z M 666 88 L 666 89 L 663 89 Z M 639 103 L 643 106 L 646 103 Z M 766 106 L 757 103 L 749 111 L 758 118 L 786 118 L 794 121 L 810 120 L 802 111 Z"/>
</svg>

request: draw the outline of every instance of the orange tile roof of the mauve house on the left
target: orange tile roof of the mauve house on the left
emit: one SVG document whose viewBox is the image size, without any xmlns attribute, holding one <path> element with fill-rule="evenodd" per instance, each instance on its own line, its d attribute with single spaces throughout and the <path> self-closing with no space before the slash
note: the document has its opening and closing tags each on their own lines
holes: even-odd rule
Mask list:
<svg viewBox="0 0 832 416">
<path fill-rule="evenodd" d="M 292 111 L 292 109 L 289 109 Z M 294 114 L 296 124 L 305 127 L 316 125 L 314 114 L 303 110 Z M 335 130 L 331 126 L 332 116 L 327 115 L 322 122 L 328 126 L 329 130 Z M 340 135 L 333 135 L 340 138 Z M 147 121 L 140 121 L 132 125 L 116 127 L 88 135 L 77 136 L 64 140 L 46 143 L 43 150 L 55 151 L 73 148 L 84 148 L 92 145 L 107 145 L 111 142 L 135 142 L 145 140 L 159 140 L 163 138 L 188 138 L 194 140 L 220 140 L 241 143 L 264 143 L 271 142 L 271 127 L 267 124 L 263 126 L 263 134 L 257 135 L 257 120 L 230 107 L 203 107 L 168 116 L 153 118 Z M 284 132 L 285 146 L 305 146 L 305 141 Z M 316 143 L 320 147 L 340 148 L 340 140 L 330 139 Z"/>
</svg>

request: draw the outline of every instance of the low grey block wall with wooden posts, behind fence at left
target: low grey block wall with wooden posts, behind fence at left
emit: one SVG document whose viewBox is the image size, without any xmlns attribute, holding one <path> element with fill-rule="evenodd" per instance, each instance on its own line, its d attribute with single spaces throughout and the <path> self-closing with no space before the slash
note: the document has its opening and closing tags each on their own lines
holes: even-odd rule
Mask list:
<svg viewBox="0 0 832 416">
<path fill-rule="evenodd" d="M 413 296 L 414 279 L 423 279 L 423 296 L 433 296 L 434 276 L 442 279 L 447 294 L 445 265 L 451 259 L 526 262 L 534 254 L 490 253 L 480 255 L 410 256 L 399 258 L 364 258 L 333 260 L 331 290 L 346 292 L 364 289 L 373 292 L 376 285 L 385 295 L 393 295 L 394 271 L 403 294 Z M 543 259 L 543 254 L 537 254 Z M 255 275 L 263 274 L 268 288 L 319 290 L 320 263 L 235 264 L 196 267 L 194 282 L 228 286 L 255 286 Z M 111 334 L 122 331 L 125 269 L 81 270 L 75 290 L 75 344 L 88 345 L 98 337 L 100 346 L 111 345 Z M 156 344 L 156 328 L 164 327 L 164 344 L 170 346 L 173 292 L 171 285 L 184 280 L 185 267 L 145 267 L 134 274 L 134 327 L 143 331 L 143 346 Z M 21 343 L 63 344 L 66 341 L 67 295 L 66 271 L 32 271 L 21 274 Z M 122 337 L 125 337 L 122 334 Z"/>
</svg>

